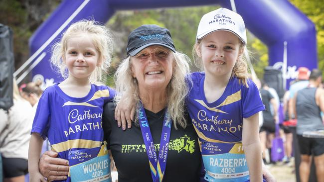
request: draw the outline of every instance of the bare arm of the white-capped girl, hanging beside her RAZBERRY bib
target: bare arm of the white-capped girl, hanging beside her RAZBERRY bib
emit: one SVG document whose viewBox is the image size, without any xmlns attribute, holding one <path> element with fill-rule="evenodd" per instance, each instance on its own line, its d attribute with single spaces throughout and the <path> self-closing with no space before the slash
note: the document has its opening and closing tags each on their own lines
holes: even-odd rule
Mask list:
<svg viewBox="0 0 324 182">
<path fill-rule="evenodd" d="M 259 138 L 259 113 L 243 118 L 242 144 L 249 167 L 250 182 L 262 182 L 262 155 Z"/>
</svg>

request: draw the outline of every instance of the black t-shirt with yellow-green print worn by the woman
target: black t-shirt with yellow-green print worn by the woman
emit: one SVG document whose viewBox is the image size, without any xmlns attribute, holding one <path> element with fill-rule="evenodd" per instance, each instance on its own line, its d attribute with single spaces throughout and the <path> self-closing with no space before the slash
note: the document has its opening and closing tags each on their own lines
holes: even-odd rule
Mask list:
<svg viewBox="0 0 324 182">
<path fill-rule="evenodd" d="M 133 123 L 131 129 L 123 131 L 114 119 L 115 105 L 104 106 L 103 129 L 108 148 L 112 151 L 118 171 L 118 182 L 152 182 L 149 159 L 145 150 L 141 128 Z M 153 141 L 159 153 L 164 109 L 158 113 L 145 110 Z M 198 182 L 201 156 L 197 134 L 190 120 L 185 129 L 171 128 L 163 182 Z"/>
</svg>

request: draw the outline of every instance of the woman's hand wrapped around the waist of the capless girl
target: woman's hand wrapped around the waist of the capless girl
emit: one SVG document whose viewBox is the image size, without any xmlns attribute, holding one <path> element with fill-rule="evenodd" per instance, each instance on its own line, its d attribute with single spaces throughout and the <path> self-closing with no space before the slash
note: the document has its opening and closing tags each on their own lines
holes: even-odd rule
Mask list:
<svg viewBox="0 0 324 182">
<path fill-rule="evenodd" d="M 39 160 L 39 171 L 50 181 L 66 180 L 69 174 L 69 161 L 56 157 L 56 152 L 46 151 Z"/>
</svg>

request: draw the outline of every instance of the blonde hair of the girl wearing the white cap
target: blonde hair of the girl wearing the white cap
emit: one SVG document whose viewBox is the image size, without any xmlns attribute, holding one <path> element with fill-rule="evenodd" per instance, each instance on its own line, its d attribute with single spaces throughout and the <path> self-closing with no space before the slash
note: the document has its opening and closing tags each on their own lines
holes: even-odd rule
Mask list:
<svg viewBox="0 0 324 182">
<path fill-rule="evenodd" d="M 198 56 L 197 49 L 201 49 L 201 40 L 198 40 L 192 49 L 192 56 L 194 64 L 197 68 L 203 71 L 203 64 L 201 58 Z M 244 86 L 248 87 L 247 79 L 248 79 L 248 65 L 247 65 L 247 56 L 246 53 L 248 51 L 246 46 L 240 41 L 240 50 L 243 52 L 241 56 L 236 59 L 235 65 L 232 70 L 231 78 L 236 77 L 239 79 L 239 83 L 243 84 Z"/>
</svg>

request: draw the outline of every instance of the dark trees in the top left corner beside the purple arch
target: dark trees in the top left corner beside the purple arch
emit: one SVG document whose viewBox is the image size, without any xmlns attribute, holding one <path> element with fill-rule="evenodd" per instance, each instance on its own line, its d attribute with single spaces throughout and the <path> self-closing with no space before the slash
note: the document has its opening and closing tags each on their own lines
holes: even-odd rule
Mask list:
<svg viewBox="0 0 324 182">
<path fill-rule="evenodd" d="M 0 20 L 13 31 L 15 70 L 29 58 L 28 39 L 60 0 L 0 0 Z M 25 79 L 29 82 L 29 78 Z"/>
</svg>

